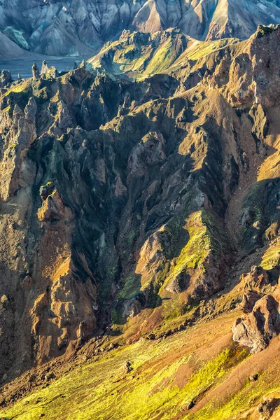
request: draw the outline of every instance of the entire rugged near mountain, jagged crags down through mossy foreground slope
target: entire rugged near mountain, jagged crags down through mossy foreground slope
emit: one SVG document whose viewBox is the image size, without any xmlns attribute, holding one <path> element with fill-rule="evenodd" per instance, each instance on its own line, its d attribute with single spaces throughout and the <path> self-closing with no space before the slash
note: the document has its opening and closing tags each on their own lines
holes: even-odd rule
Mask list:
<svg viewBox="0 0 280 420">
<path fill-rule="evenodd" d="M 279 416 L 279 49 L 125 30 L 1 80 L 1 416 Z"/>
</svg>

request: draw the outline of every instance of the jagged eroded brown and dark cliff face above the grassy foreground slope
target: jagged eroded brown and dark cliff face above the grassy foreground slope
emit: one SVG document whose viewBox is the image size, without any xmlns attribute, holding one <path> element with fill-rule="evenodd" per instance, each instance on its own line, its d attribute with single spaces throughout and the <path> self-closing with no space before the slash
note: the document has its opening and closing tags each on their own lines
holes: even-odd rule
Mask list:
<svg viewBox="0 0 280 420">
<path fill-rule="evenodd" d="M 183 42 L 178 31 L 161 37 Z M 44 64 L 3 82 L 2 381 L 92 335 L 125 331 L 132 342 L 168 320 L 186 328 L 240 260 L 246 272 L 255 258 L 276 285 L 279 40 L 279 27 L 259 27 L 187 64 L 175 48 L 162 74 L 134 81 L 98 61 L 98 72 Z M 235 339 L 258 351 L 279 332 L 279 300 L 276 286 L 255 283 Z M 257 343 L 242 339 L 248 325 Z"/>
</svg>

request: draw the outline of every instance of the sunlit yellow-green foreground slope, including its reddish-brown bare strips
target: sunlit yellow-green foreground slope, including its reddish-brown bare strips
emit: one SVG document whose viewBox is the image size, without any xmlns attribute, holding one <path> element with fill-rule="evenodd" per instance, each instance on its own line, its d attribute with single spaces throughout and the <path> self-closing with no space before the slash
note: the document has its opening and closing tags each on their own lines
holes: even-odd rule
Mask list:
<svg viewBox="0 0 280 420">
<path fill-rule="evenodd" d="M 99 361 L 78 363 L 0 415 L 18 420 L 232 419 L 248 408 L 249 398 L 258 400 L 280 386 L 278 374 L 272 378 L 269 370 L 261 372 L 258 355 L 248 356 L 232 342 L 230 326 L 236 315 L 161 341 L 142 339 Z M 129 373 L 124 370 L 127 360 Z M 248 381 L 256 372 L 261 381 Z"/>
</svg>

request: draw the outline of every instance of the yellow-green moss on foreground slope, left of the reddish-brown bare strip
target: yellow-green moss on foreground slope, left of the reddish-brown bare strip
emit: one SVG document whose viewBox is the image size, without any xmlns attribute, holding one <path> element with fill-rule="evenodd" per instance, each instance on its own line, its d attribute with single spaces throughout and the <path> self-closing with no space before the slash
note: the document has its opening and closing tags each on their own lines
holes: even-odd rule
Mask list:
<svg viewBox="0 0 280 420">
<path fill-rule="evenodd" d="M 230 342 L 209 352 L 211 343 L 228 332 L 229 321 L 228 316 L 213 321 L 211 337 L 209 325 L 200 325 L 161 342 L 141 340 L 99 361 L 78 363 L 0 415 L 18 420 L 38 419 L 40 414 L 46 420 L 192 419 L 186 405 L 197 404 L 246 361 L 246 351 Z M 202 337 L 204 349 L 197 352 Z M 128 374 L 126 360 L 132 365 Z"/>
</svg>

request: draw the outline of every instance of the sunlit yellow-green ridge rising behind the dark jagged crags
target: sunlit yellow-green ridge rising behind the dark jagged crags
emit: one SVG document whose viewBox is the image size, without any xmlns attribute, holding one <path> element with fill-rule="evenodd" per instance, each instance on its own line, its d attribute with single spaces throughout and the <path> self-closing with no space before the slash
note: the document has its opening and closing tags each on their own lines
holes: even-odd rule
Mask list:
<svg viewBox="0 0 280 420">
<path fill-rule="evenodd" d="M 135 33 L 127 34 L 119 41 L 105 45 L 102 51 L 89 62 L 94 69 L 105 70 L 114 75 L 132 73 L 134 78 L 143 78 L 155 73 L 166 73 L 184 66 L 188 60 L 197 61 L 211 52 L 236 43 L 235 38 L 218 41 L 197 41 L 182 31 L 166 31 L 151 39 L 139 41 Z M 135 39 L 136 38 L 136 39 Z"/>
</svg>

